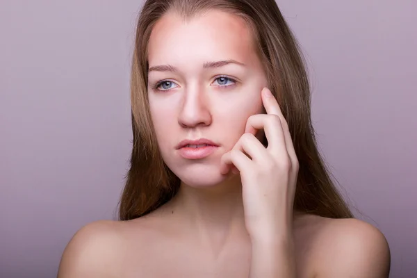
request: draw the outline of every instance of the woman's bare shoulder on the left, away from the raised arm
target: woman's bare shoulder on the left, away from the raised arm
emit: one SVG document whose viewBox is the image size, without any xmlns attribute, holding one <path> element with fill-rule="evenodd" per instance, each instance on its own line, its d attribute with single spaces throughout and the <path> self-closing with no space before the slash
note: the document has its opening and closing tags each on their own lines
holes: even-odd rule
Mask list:
<svg viewBox="0 0 417 278">
<path fill-rule="evenodd" d="M 81 228 L 63 252 L 58 278 L 124 277 L 149 264 L 149 252 L 169 229 L 156 213 L 129 221 L 103 220 Z"/>
</svg>

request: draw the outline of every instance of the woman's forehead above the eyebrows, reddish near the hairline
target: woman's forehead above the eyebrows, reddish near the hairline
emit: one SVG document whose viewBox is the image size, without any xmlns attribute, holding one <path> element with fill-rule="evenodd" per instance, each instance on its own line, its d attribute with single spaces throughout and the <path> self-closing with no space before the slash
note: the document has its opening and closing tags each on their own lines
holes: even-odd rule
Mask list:
<svg viewBox="0 0 417 278">
<path fill-rule="evenodd" d="M 163 15 L 148 42 L 149 64 L 204 63 L 234 59 L 250 64 L 256 59 L 252 31 L 244 19 L 210 10 L 184 21 L 177 13 Z"/>
</svg>

